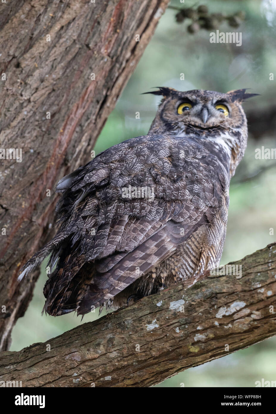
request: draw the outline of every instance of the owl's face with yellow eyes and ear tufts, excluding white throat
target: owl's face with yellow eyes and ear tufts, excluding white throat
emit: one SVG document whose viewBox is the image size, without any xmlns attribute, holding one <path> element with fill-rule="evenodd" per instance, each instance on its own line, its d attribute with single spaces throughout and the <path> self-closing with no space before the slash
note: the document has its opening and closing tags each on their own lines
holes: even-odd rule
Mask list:
<svg viewBox="0 0 276 414">
<path fill-rule="evenodd" d="M 241 103 L 255 96 L 245 94 L 245 89 L 222 94 L 197 89 L 181 92 L 159 88 L 159 91 L 148 93 L 163 96 L 149 133 L 181 136 L 195 132 L 203 133 L 205 137 L 221 135 L 222 132 L 247 131 Z"/>
</svg>

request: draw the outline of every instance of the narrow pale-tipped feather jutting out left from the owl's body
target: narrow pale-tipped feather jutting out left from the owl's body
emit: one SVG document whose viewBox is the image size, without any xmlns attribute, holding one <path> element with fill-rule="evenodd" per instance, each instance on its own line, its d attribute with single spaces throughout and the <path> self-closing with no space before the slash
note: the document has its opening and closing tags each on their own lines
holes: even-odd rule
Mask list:
<svg viewBox="0 0 276 414">
<path fill-rule="evenodd" d="M 51 253 L 53 250 L 56 250 L 57 247 L 67 238 L 68 232 L 61 231 L 58 233 L 49 243 L 45 244 L 45 246 L 38 250 L 38 252 L 25 263 L 24 266 L 21 267 L 19 270 L 19 276 L 17 280 L 20 282 L 24 276 L 26 276 L 31 270 L 36 269 L 38 265 Z"/>
</svg>

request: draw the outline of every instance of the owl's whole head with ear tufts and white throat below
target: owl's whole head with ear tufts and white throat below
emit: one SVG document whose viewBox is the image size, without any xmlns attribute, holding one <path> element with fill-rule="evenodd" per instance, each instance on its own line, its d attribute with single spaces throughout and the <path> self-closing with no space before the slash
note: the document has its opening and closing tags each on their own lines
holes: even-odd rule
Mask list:
<svg viewBox="0 0 276 414">
<path fill-rule="evenodd" d="M 245 91 L 238 89 L 221 94 L 161 87 L 158 91 L 146 92 L 163 97 L 148 133 L 194 137 L 210 151 L 215 149 L 222 157 L 228 154 L 230 176 L 233 176 L 247 144 L 247 120 L 242 103 L 258 95 Z"/>
</svg>

